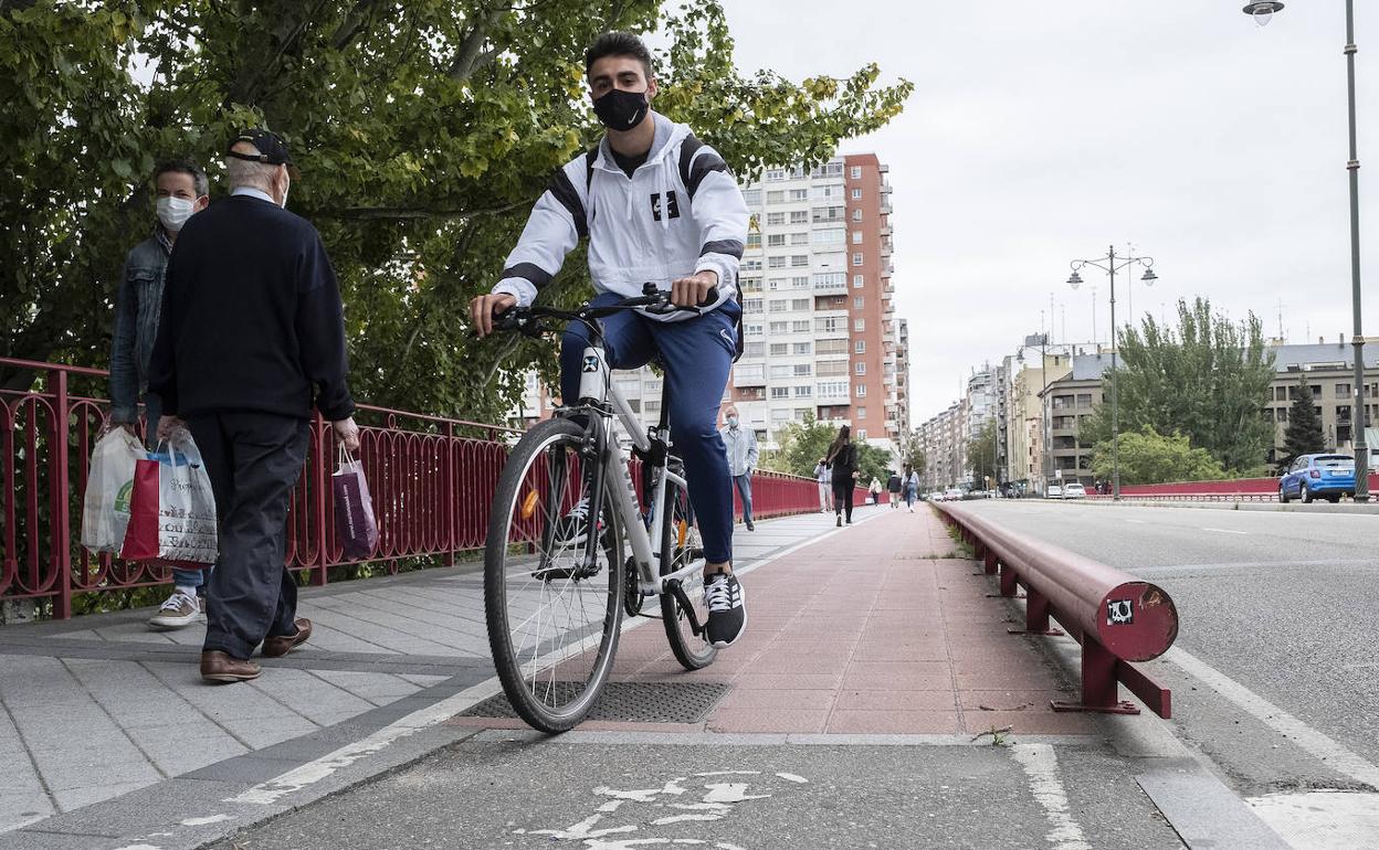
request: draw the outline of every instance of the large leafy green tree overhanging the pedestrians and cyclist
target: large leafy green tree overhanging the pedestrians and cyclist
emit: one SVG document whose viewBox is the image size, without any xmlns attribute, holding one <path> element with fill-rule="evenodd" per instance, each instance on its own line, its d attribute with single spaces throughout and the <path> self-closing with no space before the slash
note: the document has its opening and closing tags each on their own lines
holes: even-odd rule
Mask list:
<svg viewBox="0 0 1379 850">
<path fill-rule="evenodd" d="M 190 156 L 223 193 L 233 128 L 290 141 L 291 208 L 341 278 L 360 398 L 492 420 L 554 344 L 467 333 L 553 171 L 590 146 L 583 50 L 661 30 L 656 109 L 742 176 L 814 164 L 899 113 L 909 83 L 741 73 L 723 10 L 659 0 L 0 3 L 0 355 L 105 365 L 125 252 L 153 223 L 154 161 Z M 543 296 L 589 295 L 582 252 Z M 22 386 L 25 373 L 0 373 Z"/>
</svg>

